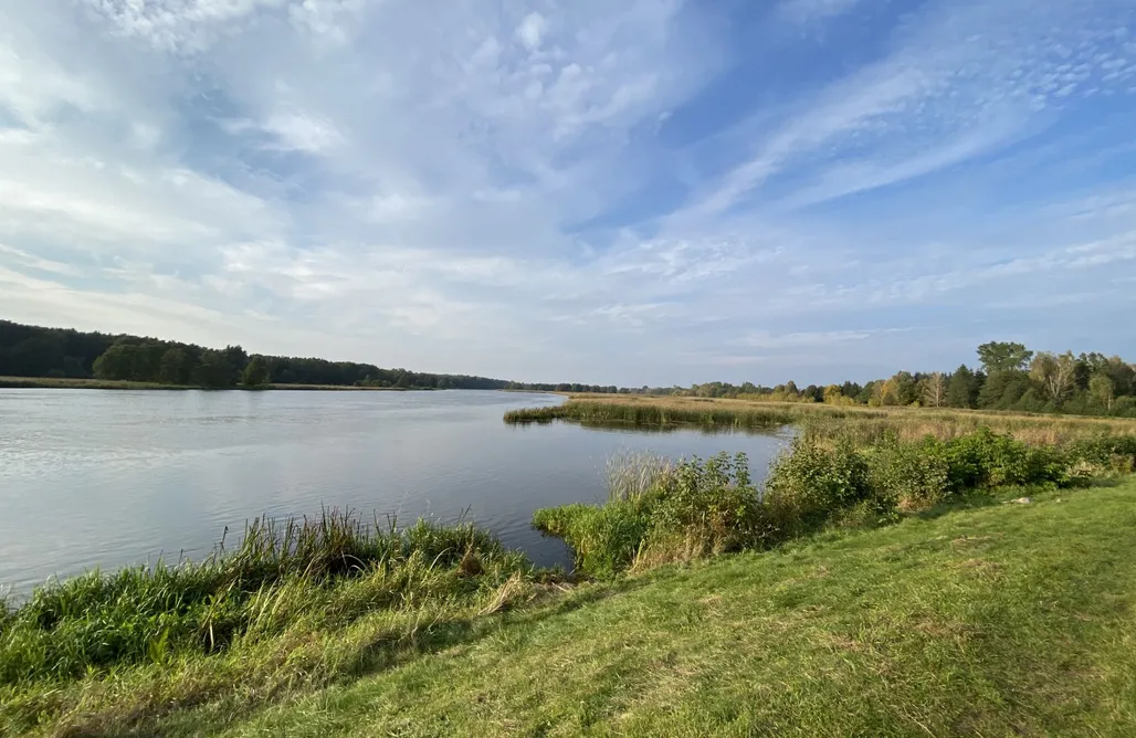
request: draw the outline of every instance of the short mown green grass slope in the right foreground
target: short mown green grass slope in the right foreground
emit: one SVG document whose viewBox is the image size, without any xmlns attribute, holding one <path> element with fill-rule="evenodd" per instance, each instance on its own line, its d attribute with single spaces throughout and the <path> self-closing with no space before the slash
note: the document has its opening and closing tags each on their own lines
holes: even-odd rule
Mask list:
<svg viewBox="0 0 1136 738">
<path fill-rule="evenodd" d="M 1134 582 L 1136 481 L 1045 494 L 585 587 L 229 735 L 1130 736 Z"/>
</svg>

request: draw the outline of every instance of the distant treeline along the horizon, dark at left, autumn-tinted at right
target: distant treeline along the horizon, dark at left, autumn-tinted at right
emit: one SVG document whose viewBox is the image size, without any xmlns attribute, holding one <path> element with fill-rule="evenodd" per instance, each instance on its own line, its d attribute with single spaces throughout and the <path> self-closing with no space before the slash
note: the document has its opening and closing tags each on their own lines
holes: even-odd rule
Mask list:
<svg viewBox="0 0 1136 738">
<path fill-rule="evenodd" d="M 1119 357 L 1034 352 L 1020 343 L 1005 342 L 980 345 L 977 368 L 963 364 L 954 371 L 900 371 L 863 385 L 845 381 L 800 388 L 793 381 L 775 387 L 711 381 L 691 387 L 616 387 L 507 381 L 326 359 L 250 357 L 241 346 L 204 349 L 0 320 L 0 376 L 123 379 L 207 388 L 273 384 L 593 392 L 1136 417 L 1136 366 Z"/>
</svg>

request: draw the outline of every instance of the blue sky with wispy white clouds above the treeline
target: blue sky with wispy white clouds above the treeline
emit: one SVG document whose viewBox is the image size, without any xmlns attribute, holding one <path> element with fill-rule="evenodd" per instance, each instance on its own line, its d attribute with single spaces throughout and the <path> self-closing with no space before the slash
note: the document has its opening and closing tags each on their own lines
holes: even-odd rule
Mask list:
<svg viewBox="0 0 1136 738">
<path fill-rule="evenodd" d="M 0 316 L 526 380 L 1136 359 L 1130 0 L 0 0 Z"/>
</svg>

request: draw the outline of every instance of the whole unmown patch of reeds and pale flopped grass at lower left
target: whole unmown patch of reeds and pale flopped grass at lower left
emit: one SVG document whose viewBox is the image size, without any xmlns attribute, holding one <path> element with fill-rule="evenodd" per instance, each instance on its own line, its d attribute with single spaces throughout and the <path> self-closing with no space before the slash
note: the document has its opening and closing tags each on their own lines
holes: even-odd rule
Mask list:
<svg viewBox="0 0 1136 738">
<path fill-rule="evenodd" d="M 240 714 L 463 637 L 540 577 L 466 525 L 258 521 L 200 563 L 92 572 L 0 607 L 0 732 L 119 733 L 198 704 Z"/>
</svg>

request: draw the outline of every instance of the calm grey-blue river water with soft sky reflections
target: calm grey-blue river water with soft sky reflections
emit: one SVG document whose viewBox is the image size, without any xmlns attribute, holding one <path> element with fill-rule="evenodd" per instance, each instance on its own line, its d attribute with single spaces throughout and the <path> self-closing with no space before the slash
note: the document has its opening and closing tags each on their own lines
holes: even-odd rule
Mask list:
<svg viewBox="0 0 1136 738">
<path fill-rule="evenodd" d="M 529 527 L 537 508 L 605 495 L 613 453 L 745 451 L 761 478 L 783 438 L 509 427 L 495 392 L 0 389 L 0 586 L 201 557 L 261 514 L 352 508 L 454 520 L 465 511 L 541 564 L 567 563 Z"/>
</svg>

